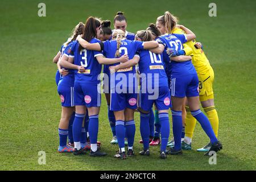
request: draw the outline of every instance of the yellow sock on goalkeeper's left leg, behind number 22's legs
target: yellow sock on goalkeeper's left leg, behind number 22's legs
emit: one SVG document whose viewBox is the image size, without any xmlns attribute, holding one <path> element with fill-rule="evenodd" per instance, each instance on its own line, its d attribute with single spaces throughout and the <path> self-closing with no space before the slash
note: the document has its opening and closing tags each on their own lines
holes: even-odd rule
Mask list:
<svg viewBox="0 0 256 182">
<path fill-rule="evenodd" d="M 192 138 L 196 126 L 196 118 L 191 115 L 191 110 L 188 106 L 185 106 L 187 111 L 186 122 L 185 122 L 185 137 Z"/>
</svg>

